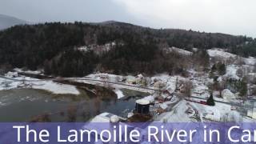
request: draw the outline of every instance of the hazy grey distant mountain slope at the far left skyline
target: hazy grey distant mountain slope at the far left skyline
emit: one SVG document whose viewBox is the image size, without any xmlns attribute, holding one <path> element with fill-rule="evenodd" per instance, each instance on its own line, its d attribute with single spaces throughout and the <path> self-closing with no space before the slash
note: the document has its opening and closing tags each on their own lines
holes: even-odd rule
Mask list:
<svg viewBox="0 0 256 144">
<path fill-rule="evenodd" d="M 26 21 L 23 21 L 21 19 L 0 14 L 0 30 L 9 28 L 10 26 L 21 25 L 26 23 L 27 23 Z"/>
</svg>

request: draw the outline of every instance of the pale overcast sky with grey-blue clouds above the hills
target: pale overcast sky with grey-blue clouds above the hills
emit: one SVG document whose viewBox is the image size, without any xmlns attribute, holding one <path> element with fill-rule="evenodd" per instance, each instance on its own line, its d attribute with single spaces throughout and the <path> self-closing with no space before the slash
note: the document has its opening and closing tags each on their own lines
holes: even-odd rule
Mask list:
<svg viewBox="0 0 256 144">
<path fill-rule="evenodd" d="M 29 22 L 116 20 L 256 38 L 255 0 L 1 0 L 0 14 Z"/>
</svg>

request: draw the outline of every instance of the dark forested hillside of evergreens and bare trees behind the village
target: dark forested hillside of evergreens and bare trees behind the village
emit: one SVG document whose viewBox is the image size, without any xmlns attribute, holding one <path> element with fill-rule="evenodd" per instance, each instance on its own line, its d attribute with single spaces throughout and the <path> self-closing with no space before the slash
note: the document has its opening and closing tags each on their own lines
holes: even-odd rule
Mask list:
<svg viewBox="0 0 256 144">
<path fill-rule="evenodd" d="M 93 49 L 114 42 L 110 50 L 96 54 Z M 176 46 L 186 50 L 197 47 L 197 54 L 181 56 L 166 53 Z M 185 74 L 188 63 L 206 65 L 206 49 L 225 48 L 242 56 L 256 55 L 256 42 L 246 36 L 200 33 L 192 30 L 156 30 L 122 22 L 45 23 L 14 26 L 0 32 L 2 67 L 44 69 L 46 74 L 84 76 L 95 70 L 114 74 L 169 72 Z M 207 60 L 206 60 L 207 61 Z"/>
</svg>

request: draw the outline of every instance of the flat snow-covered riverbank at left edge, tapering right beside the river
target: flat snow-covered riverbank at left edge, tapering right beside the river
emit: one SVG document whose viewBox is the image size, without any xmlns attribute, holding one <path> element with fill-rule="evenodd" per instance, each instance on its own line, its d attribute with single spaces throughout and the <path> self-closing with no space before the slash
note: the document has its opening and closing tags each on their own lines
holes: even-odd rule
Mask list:
<svg viewBox="0 0 256 144">
<path fill-rule="evenodd" d="M 80 94 L 75 86 L 60 84 L 53 81 L 41 81 L 36 78 L 29 78 L 24 76 L 18 76 L 17 72 L 9 72 L 6 74 L 7 78 L 13 78 L 20 81 L 6 80 L 0 78 L 0 90 L 10 90 L 17 88 L 32 88 L 39 90 L 47 90 L 53 94 Z M 29 82 L 23 82 L 23 80 Z"/>
</svg>

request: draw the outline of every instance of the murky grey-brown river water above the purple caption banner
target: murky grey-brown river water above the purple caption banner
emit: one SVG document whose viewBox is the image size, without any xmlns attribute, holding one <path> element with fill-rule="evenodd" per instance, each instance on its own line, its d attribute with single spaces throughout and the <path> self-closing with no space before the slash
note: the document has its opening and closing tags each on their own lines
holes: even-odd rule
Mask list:
<svg viewBox="0 0 256 144">
<path fill-rule="evenodd" d="M 135 100 L 148 94 L 122 90 L 126 98 L 91 97 L 81 90 L 80 95 L 50 94 L 44 90 L 15 89 L 0 91 L 0 122 L 30 122 L 47 114 L 51 122 L 67 122 L 70 114 L 75 122 L 87 122 L 102 112 L 126 117 L 134 109 Z"/>
</svg>

